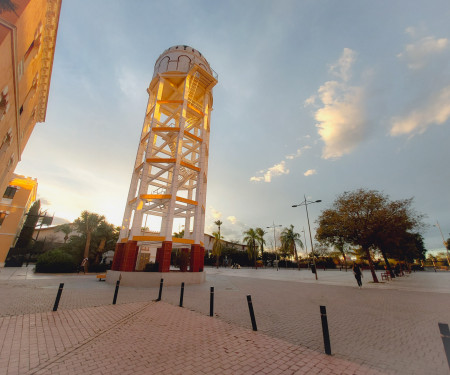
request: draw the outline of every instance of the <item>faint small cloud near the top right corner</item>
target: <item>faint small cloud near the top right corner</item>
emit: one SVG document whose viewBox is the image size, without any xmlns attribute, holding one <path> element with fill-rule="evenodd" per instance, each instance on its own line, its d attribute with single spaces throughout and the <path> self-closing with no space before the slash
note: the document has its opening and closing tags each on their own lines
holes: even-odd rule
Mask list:
<svg viewBox="0 0 450 375">
<path fill-rule="evenodd" d="M 407 33 L 415 35 L 412 28 L 407 28 Z M 436 38 L 434 36 L 423 37 L 414 43 L 407 44 L 403 52 L 397 55 L 404 59 L 410 69 L 421 69 L 431 59 L 433 55 L 440 54 L 449 47 L 447 38 Z"/>
</svg>

